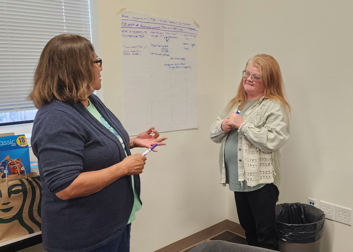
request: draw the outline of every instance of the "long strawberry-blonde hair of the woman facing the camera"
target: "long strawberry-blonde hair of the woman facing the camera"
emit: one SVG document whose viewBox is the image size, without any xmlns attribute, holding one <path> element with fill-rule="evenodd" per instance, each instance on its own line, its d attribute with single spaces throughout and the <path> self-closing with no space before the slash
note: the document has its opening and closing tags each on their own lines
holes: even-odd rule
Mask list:
<svg viewBox="0 0 353 252">
<path fill-rule="evenodd" d="M 257 54 L 246 62 L 245 69 L 249 65 L 259 69 L 261 84 L 263 88 L 263 97 L 265 99 L 277 100 L 281 103 L 282 106 L 286 107 L 287 112 L 290 113 L 291 106 L 285 98 L 285 89 L 280 66 L 274 57 L 267 54 Z M 237 104 L 239 104 L 239 110 L 241 110 L 246 104 L 246 101 L 247 93 L 245 92 L 243 86 L 243 78 L 241 78 L 237 95 L 229 101 L 228 105 L 226 106 L 226 110 L 230 112 Z"/>
</svg>

